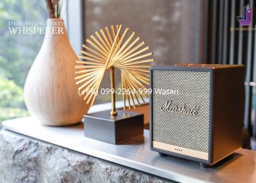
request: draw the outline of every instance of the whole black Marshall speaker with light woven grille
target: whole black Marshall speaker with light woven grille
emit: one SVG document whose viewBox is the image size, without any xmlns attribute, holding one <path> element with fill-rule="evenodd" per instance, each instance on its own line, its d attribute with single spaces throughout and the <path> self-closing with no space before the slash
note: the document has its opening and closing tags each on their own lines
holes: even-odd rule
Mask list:
<svg viewBox="0 0 256 183">
<path fill-rule="evenodd" d="M 211 166 L 241 148 L 243 65 L 150 68 L 150 148 Z"/>
</svg>

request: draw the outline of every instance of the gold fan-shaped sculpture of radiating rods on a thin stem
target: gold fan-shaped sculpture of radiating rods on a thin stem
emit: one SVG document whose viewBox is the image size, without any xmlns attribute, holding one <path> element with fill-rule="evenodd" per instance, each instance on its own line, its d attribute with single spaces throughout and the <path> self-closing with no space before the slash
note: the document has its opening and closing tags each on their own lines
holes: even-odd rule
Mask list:
<svg viewBox="0 0 256 183">
<path fill-rule="evenodd" d="M 144 99 L 148 98 L 148 93 L 138 91 L 140 88 L 148 88 L 148 68 L 150 65 L 145 65 L 145 63 L 154 61 L 153 58 L 148 58 L 153 53 L 147 52 L 149 47 L 143 47 L 145 42 L 140 42 L 140 37 L 134 39 L 134 32 L 127 36 L 129 28 L 121 33 L 122 27 L 122 25 L 117 25 L 116 28 L 111 26 L 111 31 L 109 28 L 105 28 L 105 31 L 100 29 L 100 33 L 95 32 L 96 37 L 91 35 L 90 38 L 86 39 L 88 45 L 82 45 L 85 51 L 80 51 L 82 55 L 78 56 L 83 60 L 76 61 L 79 64 L 76 65 L 76 74 L 79 76 L 75 79 L 77 80 L 76 84 L 79 84 L 79 94 L 81 93 L 87 104 L 91 102 L 90 107 L 95 102 L 107 70 L 110 70 L 111 89 L 113 88 L 115 91 L 115 68 L 121 70 L 124 109 L 126 109 L 126 100 L 128 100 L 129 109 L 131 109 L 131 102 L 135 108 L 135 100 L 140 106 L 141 103 L 145 102 Z M 115 93 L 111 93 L 111 115 L 117 115 Z"/>
</svg>

